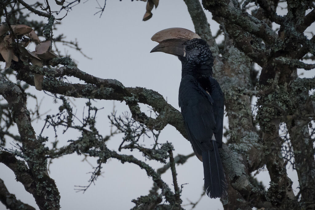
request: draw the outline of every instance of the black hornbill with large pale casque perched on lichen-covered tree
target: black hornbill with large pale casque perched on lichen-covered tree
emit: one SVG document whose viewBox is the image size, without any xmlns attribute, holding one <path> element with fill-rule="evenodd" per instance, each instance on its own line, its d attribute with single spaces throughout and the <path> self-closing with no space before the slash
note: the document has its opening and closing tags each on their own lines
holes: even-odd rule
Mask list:
<svg viewBox="0 0 315 210">
<path fill-rule="evenodd" d="M 224 98 L 212 77 L 213 56 L 209 45 L 196 33 L 169 28 L 151 38 L 159 44 L 151 52 L 176 55 L 182 64 L 178 103 L 188 139 L 203 162 L 204 188 L 211 198 L 226 192 L 218 147 L 222 147 Z"/>
</svg>

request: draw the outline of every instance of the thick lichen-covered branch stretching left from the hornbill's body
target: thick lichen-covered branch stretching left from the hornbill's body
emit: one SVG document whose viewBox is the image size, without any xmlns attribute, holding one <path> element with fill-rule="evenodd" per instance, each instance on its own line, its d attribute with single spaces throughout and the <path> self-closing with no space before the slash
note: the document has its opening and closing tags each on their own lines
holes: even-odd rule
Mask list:
<svg viewBox="0 0 315 210">
<path fill-rule="evenodd" d="M 65 64 L 65 63 L 64 63 Z M 19 72 L 18 78 L 34 85 L 33 77 L 28 72 L 45 76 L 74 76 L 90 84 L 70 84 L 61 82 L 52 77 L 45 77 L 43 90 L 53 94 L 62 94 L 75 98 L 94 98 L 105 100 L 126 101 L 132 113 L 132 117 L 144 123 L 149 128 L 162 130 L 167 124 L 174 126 L 185 138 L 187 138 L 183 118 L 178 110 L 169 105 L 162 95 L 146 88 L 126 88 L 121 82 L 111 79 L 100 79 L 80 71 L 75 66 L 63 66 L 58 69 L 40 68 L 23 63 L 14 63 L 12 68 Z M 154 119 L 140 111 L 138 103 L 152 106 L 159 116 Z"/>
</svg>

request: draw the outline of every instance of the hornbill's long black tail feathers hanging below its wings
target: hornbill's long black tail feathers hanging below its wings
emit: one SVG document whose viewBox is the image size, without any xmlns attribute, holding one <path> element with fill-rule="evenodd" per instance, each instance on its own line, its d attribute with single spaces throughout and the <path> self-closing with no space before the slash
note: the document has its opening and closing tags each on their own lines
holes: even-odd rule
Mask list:
<svg viewBox="0 0 315 210">
<path fill-rule="evenodd" d="M 213 150 L 202 152 L 204 189 L 210 198 L 220 198 L 226 192 L 226 179 L 216 141 Z"/>
</svg>

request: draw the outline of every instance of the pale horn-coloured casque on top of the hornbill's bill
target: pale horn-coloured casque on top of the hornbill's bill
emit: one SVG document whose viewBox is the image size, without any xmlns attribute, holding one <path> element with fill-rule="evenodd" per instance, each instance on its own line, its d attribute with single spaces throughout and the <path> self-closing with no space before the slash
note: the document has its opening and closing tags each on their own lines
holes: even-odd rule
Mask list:
<svg viewBox="0 0 315 210">
<path fill-rule="evenodd" d="M 178 38 L 186 39 L 186 40 L 191 40 L 194 38 L 201 39 L 198 36 L 198 34 L 186 28 L 167 28 L 167 29 L 164 29 L 162 31 L 155 33 L 152 36 L 151 40 L 160 43 L 166 39 L 178 39 Z"/>
</svg>

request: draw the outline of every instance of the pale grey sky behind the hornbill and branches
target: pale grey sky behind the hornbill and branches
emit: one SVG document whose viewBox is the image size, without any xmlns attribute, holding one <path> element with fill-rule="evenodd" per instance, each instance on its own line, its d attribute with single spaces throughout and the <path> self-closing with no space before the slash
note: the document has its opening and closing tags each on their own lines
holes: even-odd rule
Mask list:
<svg viewBox="0 0 315 210">
<path fill-rule="evenodd" d="M 35 1 L 26 2 L 31 4 Z M 52 6 L 54 1 L 50 2 Z M 194 31 L 186 4 L 182 0 L 160 1 L 157 10 L 152 10 L 152 18 L 148 21 L 142 21 L 146 11 L 146 3 L 142 1 L 106 1 L 106 9 L 101 18 L 99 18 L 99 14 L 94 15 L 98 11 L 95 0 L 83 2 L 81 1 L 72 11 L 69 11 L 67 17 L 61 21 L 61 25 L 57 25 L 58 30 L 54 31 L 54 35 L 63 33 L 69 41 L 77 39 L 83 52 L 93 59 L 89 60 L 80 53 L 61 45 L 59 45 L 59 49 L 62 52 L 69 52 L 80 70 L 100 78 L 117 79 L 126 87 L 138 86 L 153 89 L 162 94 L 171 105 L 179 109 L 180 61 L 169 54 L 150 54 L 151 49 L 157 45 L 150 38 L 157 31 L 170 27 L 183 27 Z M 99 0 L 99 3 L 102 5 L 103 1 Z M 211 19 L 209 12 L 205 12 L 212 33 L 215 34 L 219 25 Z M 47 22 L 47 19 L 45 21 Z M 43 37 L 40 39 L 43 40 Z M 78 82 L 73 79 L 69 80 Z M 43 98 L 40 108 L 42 113 L 47 111 L 49 114 L 57 113 L 59 105 L 53 103 L 52 97 L 44 94 L 43 91 L 35 90 L 34 87 L 27 91 L 36 94 L 38 100 Z M 73 109 L 77 111 L 77 116 L 82 117 L 83 107 L 87 100 L 71 99 L 71 101 L 75 105 Z M 96 100 L 92 101 L 92 104 L 98 108 L 104 107 L 98 113 L 97 128 L 103 136 L 108 135 L 110 123 L 107 115 L 113 109 L 113 102 Z M 34 106 L 35 100 L 29 98 L 28 107 L 34 110 Z M 128 111 L 125 103 L 116 101 L 115 107 L 117 114 Z M 148 110 L 146 105 L 142 106 L 142 111 Z M 45 116 L 42 116 L 42 120 L 32 122 L 37 134 L 42 129 L 44 118 Z M 225 124 L 227 127 L 227 118 L 225 118 Z M 63 128 L 60 128 L 61 132 L 62 130 Z M 57 138 L 59 147 L 66 145 L 67 140 L 76 140 L 78 137 L 77 132 L 67 131 L 63 135 L 61 132 Z M 47 145 L 51 147 L 50 142 L 55 140 L 53 131 L 47 129 L 43 135 L 49 137 Z M 122 135 L 112 138 L 107 143 L 108 147 L 117 150 L 121 138 Z M 173 143 L 175 156 L 177 154 L 187 155 L 192 152 L 190 143 L 172 126 L 167 126 L 160 134 L 159 142 L 166 141 Z M 153 142 L 153 139 L 146 138 L 144 143 L 151 145 Z M 8 147 L 11 145 L 8 144 Z M 141 160 L 144 159 L 141 154 L 135 152 L 122 150 L 121 154 L 133 154 Z M 77 156 L 77 154 L 67 155 L 54 160 L 50 166 L 50 177 L 55 180 L 60 191 L 61 209 L 130 209 L 135 206 L 131 200 L 147 195 L 152 187 L 152 179 L 146 175 L 144 170 L 133 164 L 121 164 L 121 162 L 111 159 L 103 164 L 102 176 L 95 182 L 95 185 L 91 185 L 84 194 L 76 192 L 74 186 L 87 185 L 91 175 L 89 172 L 93 171 L 88 162 L 82 162 L 83 158 L 84 156 Z M 88 158 L 88 160 L 93 166 L 97 166 L 95 158 Z M 155 161 L 149 161 L 149 164 L 156 169 L 162 167 L 162 164 Z M 184 206 L 189 203 L 187 199 L 196 202 L 203 193 L 202 162 L 196 157 L 192 157 L 186 164 L 177 166 L 176 170 L 178 184 L 185 184 L 181 197 L 183 207 L 191 209 L 191 206 Z M 15 194 L 17 199 L 38 209 L 31 194 L 24 190 L 22 184 L 16 182 L 14 173 L 2 163 L 0 163 L 0 171 L 0 178 L 4 180 L 9 192 Z M 289 176 L 294 181 L 293 188 L 295 190 L 298 186 L 296 173 L 290 173 Z M 266 171 L 262 171 L 256 177 L 263 180 L 268 187 L 270 179 Z M 170 171 L 164 173 L 162 178 L 173 190 Z M 0 203 L 0 210 L 2 209 L 5 207 Z M 223 207 L 219 199 L 203 196 L 195 209 L 223 209 Z"/>
</svg>

